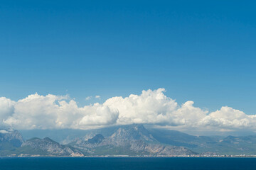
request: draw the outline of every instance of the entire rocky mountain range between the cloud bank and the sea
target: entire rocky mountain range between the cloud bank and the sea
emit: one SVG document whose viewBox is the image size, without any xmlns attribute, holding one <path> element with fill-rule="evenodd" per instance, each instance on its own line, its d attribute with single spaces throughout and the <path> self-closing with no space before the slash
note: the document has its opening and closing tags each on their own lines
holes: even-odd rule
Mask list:
<svg viewBox="0 0 256 170">
<path fill-rule="evenodd" d="M 1 157 L 173 157 L 202 154 L 256 154 L 256 136 L 193 136 L 134 124 L 80 130 L 78 134 L 55 141 L 38 136 L 24 140 L 18 130 L 0 130 Z"/>
</svg>

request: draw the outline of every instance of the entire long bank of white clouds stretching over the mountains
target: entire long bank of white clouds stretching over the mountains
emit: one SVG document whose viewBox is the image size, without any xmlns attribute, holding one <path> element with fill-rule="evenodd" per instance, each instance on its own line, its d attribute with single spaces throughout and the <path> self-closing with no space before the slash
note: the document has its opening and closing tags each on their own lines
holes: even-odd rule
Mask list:
<svg viewBox="0 0 256 170">
<path fill-rule="evenodd" d="M 78 107 L 68 96 L 31 94 L 18 101 L 0 98 L 0 125 L 18 130 L 89 129 L 109 125 L 146 123 L 161 127 L 197 130 L 256 130 L 256 115 L 223 106 L 209 113 L 193 106 L 178 105 L 165 89 L 142 91 L 126 98 L 112 97 L 104 103 Z"/>
</svg>

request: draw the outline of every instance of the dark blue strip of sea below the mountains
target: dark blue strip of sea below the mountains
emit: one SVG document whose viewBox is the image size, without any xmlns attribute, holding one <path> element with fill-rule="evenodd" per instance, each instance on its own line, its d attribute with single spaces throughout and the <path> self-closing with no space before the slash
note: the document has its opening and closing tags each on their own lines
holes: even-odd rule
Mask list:
<svg viewBox="0 0 256 170">
<path fill-rule="evenodd" d="M 256 169 L 256 158 L 0 158 L 0 169 Z"/>
</svg>

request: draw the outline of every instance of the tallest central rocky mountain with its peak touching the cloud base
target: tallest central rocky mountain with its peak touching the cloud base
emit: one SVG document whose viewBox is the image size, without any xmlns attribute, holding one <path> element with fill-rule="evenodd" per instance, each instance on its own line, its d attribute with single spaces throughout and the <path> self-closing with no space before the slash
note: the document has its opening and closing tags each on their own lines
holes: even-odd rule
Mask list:
<svg viewBox="0 0 256 170">
<path fill-rule="evenodd" d="M 95 137 L 99 138 L 97 142 Z M 110 137 L 96 135 L 91 140 L 76 140 L 70 145 L 87 154 L 125 154 L 125 155 L 191 155 L 195 154 L 185 147 L 160 145 L 143 125 L 127 125 L 117 129 Z"/>
</svg>

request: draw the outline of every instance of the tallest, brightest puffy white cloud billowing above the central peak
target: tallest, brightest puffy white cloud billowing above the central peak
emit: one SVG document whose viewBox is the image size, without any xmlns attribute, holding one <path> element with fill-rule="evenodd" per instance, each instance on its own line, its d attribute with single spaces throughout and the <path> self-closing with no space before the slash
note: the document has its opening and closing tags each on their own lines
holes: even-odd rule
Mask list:
<svg viewBox="0 0 256 170">
<path fill-rule="evenodd" d="M 163 94 L 164 89 L 142 91 L 141 95 L 131 94 L 127 98 L 109 98 L 103 105 L 117 108 L 117 124 L 131 123 L 173 123 L 171 113 L 177 103 Z"/>
</svg>

